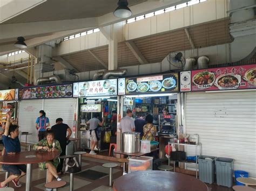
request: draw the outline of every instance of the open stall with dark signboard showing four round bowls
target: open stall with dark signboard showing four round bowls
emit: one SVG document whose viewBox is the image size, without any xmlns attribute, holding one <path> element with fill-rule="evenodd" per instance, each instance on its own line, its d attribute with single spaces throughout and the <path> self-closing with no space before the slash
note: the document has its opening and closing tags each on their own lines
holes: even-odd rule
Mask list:
<svg viewBox="0 0 256 191">
<path fill-rule="evenodd" d="M 179 123 L 178 73 L 127 77 L 118 80 L 118 95 L 122 95 L 122 116 L 126 115 L 127 109 L 133 111 L 134 119 L 151 114 L 154 118 L 153 124 L 157 126 L 158 131 L 159 157 L 164 158 L 165 145 L 170 138 L 177 137 Z M 169 112 L 164 115 L 163 110 Z"/>
</svg>

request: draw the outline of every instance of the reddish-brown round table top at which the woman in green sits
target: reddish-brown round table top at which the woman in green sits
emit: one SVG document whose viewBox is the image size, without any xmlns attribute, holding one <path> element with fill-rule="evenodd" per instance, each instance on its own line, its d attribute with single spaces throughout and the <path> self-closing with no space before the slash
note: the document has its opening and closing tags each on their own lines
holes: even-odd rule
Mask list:
<svg viewBox="0 0 256 191">
<path fill-rule="evenodd" d="M 22 165 L 22 164 L 34 164 L 38 162 L 50 161 L 57 158 L 60 152 L 48 152 L 48 151 L 22 151 L 20 153 L 11 155 L 6 154 L 0 157 L 0 164 L 6 165 Z"/>
</svg>

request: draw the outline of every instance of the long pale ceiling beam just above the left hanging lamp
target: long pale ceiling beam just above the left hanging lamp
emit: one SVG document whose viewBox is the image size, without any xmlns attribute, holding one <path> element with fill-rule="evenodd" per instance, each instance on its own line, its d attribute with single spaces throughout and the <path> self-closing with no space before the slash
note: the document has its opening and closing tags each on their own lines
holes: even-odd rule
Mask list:
<svg viewBox="0 0 256 191">
<path fill-rule="evenodd" d="M 5 39 L 16 40 L 17 37 L 26 37 L 42 35 L 45 33 L 82 29 L 86 27 L 95 28 L 98 26 L 97 18 L 82 18 L 69 20 L 54 20 L 45 22 L 30 22 L 17 24 L 0 25 L 0 42 Z"/>
</svg>

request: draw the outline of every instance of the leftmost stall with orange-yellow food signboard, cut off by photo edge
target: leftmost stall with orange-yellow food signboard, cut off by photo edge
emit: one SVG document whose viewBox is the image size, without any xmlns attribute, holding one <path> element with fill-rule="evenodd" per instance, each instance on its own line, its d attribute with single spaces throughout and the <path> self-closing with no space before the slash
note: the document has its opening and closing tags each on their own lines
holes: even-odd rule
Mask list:
<svg viewBox="0 0 256 191">
<path fill-rule="evenodd" d="M 6 122 L 6 112 L 13 111 L 12 117 L 17 116 L 18 89 L 0 90 L 0 126 Z"/>
</svg>

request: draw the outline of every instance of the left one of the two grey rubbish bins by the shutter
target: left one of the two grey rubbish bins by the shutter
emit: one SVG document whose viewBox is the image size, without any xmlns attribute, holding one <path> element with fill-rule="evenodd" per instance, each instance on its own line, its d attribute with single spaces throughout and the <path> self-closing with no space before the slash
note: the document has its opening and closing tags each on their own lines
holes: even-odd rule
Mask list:
<svg viewBox="0 0 256 191">
<path fill-rule="evenodd" d="M 199 179 L 206 183 L 214 182 L 214 160 L 215 157 L 201 156 L 198 158 Z"/>
</svg>

